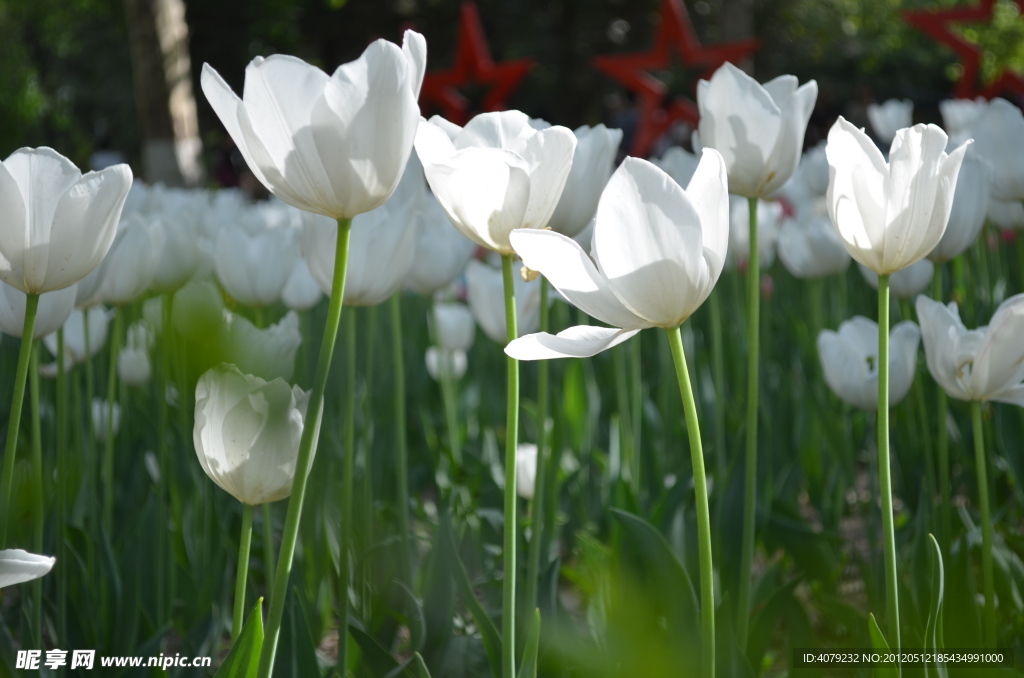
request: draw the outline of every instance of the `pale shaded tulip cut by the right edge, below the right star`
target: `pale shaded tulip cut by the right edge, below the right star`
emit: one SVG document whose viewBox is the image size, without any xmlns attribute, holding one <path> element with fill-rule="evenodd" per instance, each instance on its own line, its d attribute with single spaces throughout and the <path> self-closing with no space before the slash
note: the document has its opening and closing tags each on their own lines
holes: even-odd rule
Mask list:
<svg viewBox="0 0 1024 678">
<path fill-rule="evenodd" d="M 1024 200 L 1024 114 L 994 98 L 971 126 L 975 151 L 992 165 L 992 198 Z"/>
</svg>

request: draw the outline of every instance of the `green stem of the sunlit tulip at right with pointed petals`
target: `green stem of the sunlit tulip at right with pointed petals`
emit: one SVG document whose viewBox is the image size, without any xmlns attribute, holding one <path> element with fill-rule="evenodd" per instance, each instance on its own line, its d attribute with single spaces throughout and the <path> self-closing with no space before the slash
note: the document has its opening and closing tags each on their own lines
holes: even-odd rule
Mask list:
<svg viewBox="0 0 1024 678">
<path fill-rule="evenodd" d="M 879 276 L 879 494 L 886 563 L 886 611 L 889 646 L 899 650 L 899 596 L 896 589 L 896 527 L 893 481 L 889 464 L 889 276 Z"/>
</svg>

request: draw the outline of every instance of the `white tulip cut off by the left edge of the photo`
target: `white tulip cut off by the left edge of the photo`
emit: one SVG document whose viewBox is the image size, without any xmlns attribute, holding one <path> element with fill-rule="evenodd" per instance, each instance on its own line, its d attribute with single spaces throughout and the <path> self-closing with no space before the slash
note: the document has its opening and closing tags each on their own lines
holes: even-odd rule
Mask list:
<svg viewBox="0 0 1024 678">
<path fill-rule="evenodd" d="M 115 165 L 83 175 L 52 149 L 19 149 L 0 163 L 0 281 L 41 294 L 75 285 L 114 242 L 131 187 Z"/>
</svg>

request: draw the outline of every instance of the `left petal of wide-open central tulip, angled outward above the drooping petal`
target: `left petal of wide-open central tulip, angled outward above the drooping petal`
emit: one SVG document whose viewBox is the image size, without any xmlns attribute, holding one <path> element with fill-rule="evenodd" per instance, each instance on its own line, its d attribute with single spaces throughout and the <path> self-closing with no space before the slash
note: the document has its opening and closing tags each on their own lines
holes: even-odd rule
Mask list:
<svg viewBox="0 0 1024 678">
<path fill-rule="evenodd" d="M 615 297 L 607 279 L 583 248 L 553 230 L 520 228 L 509 240 L 526 267 L 540 271 L 569 303 L 602 323 L 623 328 L 651 327 Z"/>
</svg>

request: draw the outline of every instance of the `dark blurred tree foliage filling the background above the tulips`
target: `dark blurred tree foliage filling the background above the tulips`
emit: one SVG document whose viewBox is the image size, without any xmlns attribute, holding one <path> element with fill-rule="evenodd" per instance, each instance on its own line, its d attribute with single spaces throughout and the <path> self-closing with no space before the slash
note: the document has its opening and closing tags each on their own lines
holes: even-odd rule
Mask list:
<svg viewBox="0 0 1024 678">
<path fill-rule="evenodd" d="M 906 25 L 903 9 L 974 4 L 957 0 L 689 0 L 700 40 L 735 39 L 737 12 L 753 15 L 761 49 L 755 75 L 815 78 L 821 94 L 808 132 L 813 142 L 837 114 L 862 121 L 864 105 L 892 96 L 916 103 L 919 121 L 938 119 L 950 95 L 954 55 Z M 594 70 L 596 54 L 647 49 L 660 0 L 477 0 L 496 60 L 537 60 L 509 104 L 553 123 L 606 118 L 617 85 Z M 189 51 L 207 156 L 222 128 L 199 87 L 204 62 L 242 91 L 254 56 L 295 54 L 327 71 L 358 56 L 375 38 L 400 41 L 404 28 L 427 37 L 428 69 L 455 50 L 459 0 L 186 0 Z M 990 26 L 965 25 L 985 45 L 984 75 L 1024 70 L 1024 18 L 999 0 Z M 0 154 L 52 145 L 80 165 L 99 144 L 139 160 L 123 0 L 0 0 Z M 692 92 L 694 74 L 675 91 Z M 674 77 L 673 80 L 676 80 Z M 689 84 L 686 84 L 689 83 Z M 469 92 L 472 97 L 473 92 Z"/>
</svg>

